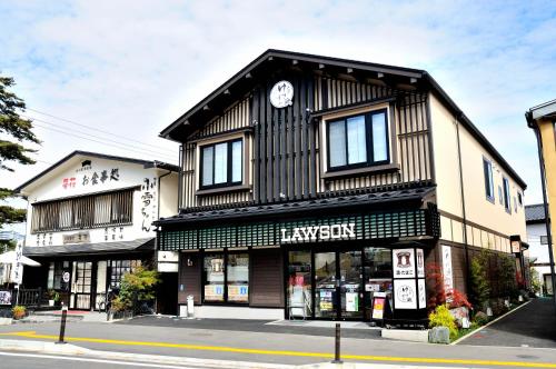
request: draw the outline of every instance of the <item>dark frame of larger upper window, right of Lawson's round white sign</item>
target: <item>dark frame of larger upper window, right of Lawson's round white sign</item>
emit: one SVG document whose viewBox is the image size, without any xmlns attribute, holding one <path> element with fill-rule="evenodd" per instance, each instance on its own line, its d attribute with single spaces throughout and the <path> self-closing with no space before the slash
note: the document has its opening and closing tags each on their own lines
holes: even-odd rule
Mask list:
<svg viewBox="0 0 556 369">
<path fill-rule="evenodd" d="M 374 150 L 374 144 L 373 144 L 373 116 L 376 114 L 385 114 L 385 130 L 386 130 L 386 159 L 385 160 L 374 160 L 375 156 L 375 150 Z M 348 119 L 355 118 L 355 117 L 364 117 L 365 118 L 365 143 L 366 143 L 366 161 L 364 162 L 357 162 L 350 164 L 349 161 L 349 141 L 348 141 L 348 133 L 347 133 L 347 124 L 348 124 Z M 330 124 L 335 122 L 344 122 L 345 127 L 345 151 L 346 151 L 346 164 L 345 166 L 330 166 Z M 388 108 L 380 108 L 376 110 L 370 110 L 370 111 L 365 111 L 365 112 L 359 112 L 359 113 L 353 113 L 353 114 L 347 114 L 342 117 L 337 117 L 334 119 L 326 120 L 325 122 L 325 128 L 326 128 L 326 166 L 327 166 L 327 172 L 337 172 L 337 171 L 344 171 L 344 170 L 350 170 L 350 169 L 359 169 L 359 168 L 370 168 L 370 167 L 378 167 L 378 166 L 384 166 L 384 164 L 389 164 L 391 162 L 391 153 L 390 153 L 390 120 L 388 116 Z"/>
</svg>

